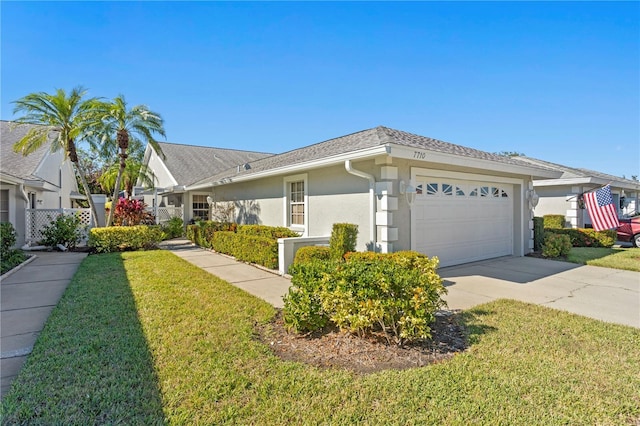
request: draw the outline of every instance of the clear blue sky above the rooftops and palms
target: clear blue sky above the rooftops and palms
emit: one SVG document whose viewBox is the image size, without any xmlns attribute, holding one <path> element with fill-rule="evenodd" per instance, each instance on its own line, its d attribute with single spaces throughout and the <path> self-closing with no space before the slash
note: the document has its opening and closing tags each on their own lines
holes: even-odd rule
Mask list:
<svg viewBox="0 0 640 426">
<path fill-rule="evenodd" d="M 82 85 L 170 142 L 284 152 L 378 125 L 640 174 L 638 2 L 7 2 L 1 105 Z"/>
</svg>

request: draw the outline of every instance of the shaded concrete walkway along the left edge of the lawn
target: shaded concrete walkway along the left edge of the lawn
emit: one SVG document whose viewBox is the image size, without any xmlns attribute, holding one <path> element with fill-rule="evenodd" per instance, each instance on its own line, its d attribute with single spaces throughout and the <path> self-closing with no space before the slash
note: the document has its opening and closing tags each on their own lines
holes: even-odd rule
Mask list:
<svg viewBox="0 0 640 426">
<path fill-rule="evenodd" d="M 0 397 L 22 368 L 86 253 L 34 252 L 0 279 Z"/>
</svg>

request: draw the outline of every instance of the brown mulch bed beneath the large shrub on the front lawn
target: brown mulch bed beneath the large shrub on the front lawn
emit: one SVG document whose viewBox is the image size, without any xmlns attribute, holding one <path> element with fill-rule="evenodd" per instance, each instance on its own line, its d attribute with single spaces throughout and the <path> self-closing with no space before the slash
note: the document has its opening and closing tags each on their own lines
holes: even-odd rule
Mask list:
<svg viewBox="0 0 640 426">
<path fill-rule="evenodd" d="M 320 368 L 346 369 L 360 374 L 422 367 L 448 360 L 468 346 L 459 313 L 453 311 L 436 314 L 431 331 L 432 340 L 403 347 L 387 343 L 381 333 L 360 337 L 335 328 L 308 335 L 289 332 L 284 326 L 282 311 L 272 322 L 256 324 L 256 331 L 259 340 L 284 360 L 304 362 Z"/>
</svg>

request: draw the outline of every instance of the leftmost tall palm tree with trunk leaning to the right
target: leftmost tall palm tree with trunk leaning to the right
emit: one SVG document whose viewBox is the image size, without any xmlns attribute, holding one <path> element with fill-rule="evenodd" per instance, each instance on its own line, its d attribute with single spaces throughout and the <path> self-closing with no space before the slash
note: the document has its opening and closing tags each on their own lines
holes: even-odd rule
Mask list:
<svg viewBox="0 0 640 426">
<path fill-rule="evenodd" d="M 97 98 L 83 99 L 86 93 L 84 88 L 78 86 L 73 88 L 69 94 L 63 89 L 57 89 L 54 94 L 31 93 L 14 101 L 13 113 L 24 114 L 14 121 L 37 126 L 32 127 L 22 139 L 16 142 L 13 150 L 27 156 L 46 143 L 52 144 L 52 151 L 63 149 L 65 158 L 71 160 L 80 177 L 80 182 L 89 200 L 95 226 L 99 226 L 96 206 L 78 161 L 76 145 L 90 135 L 94 123 L 91 116 L 96 105 L 99 104 Z M 51 139 L 50 136 L 54 133 L 56 136 Z"/>
</svg>

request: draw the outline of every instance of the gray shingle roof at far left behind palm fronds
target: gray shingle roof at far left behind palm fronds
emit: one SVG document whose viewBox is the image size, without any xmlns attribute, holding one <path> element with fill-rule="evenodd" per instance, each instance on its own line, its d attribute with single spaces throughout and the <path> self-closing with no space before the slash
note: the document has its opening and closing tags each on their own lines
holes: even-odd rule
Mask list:
<svg viewBox="0 0 640 426">
<path fill-rule="evenodd" d="M 0 171 L 2 173 L 23 180 L 40 179 L 34 173 L 44 156 L 51 149 L 51 144 L 44 144 L 37 151 L 26 157 L 13 152 L 13 145 L 33 127 L 36 126 L 33 124 L 17 125 L 11 121 L 0 121 Z"/>
</svg>

